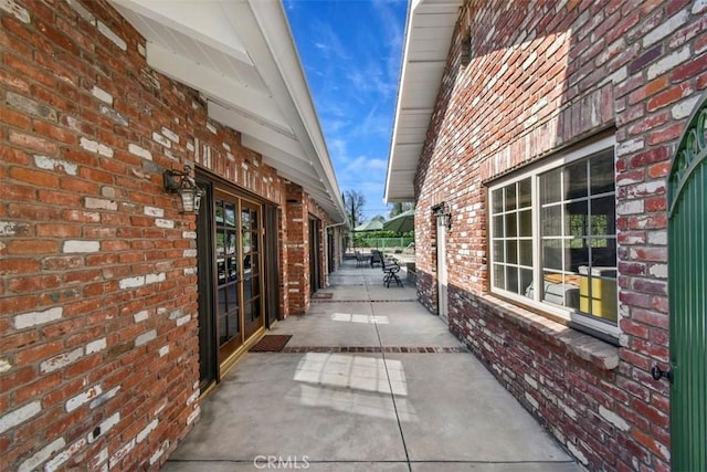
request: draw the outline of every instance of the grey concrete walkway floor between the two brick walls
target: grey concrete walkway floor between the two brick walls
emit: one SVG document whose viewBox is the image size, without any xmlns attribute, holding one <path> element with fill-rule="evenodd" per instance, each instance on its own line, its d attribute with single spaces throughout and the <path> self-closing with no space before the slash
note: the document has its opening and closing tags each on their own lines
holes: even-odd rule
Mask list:
<svg viewBox="0 0 707 472">
<path fill-rule="evenodd" d="M 292 338 L 236 364 L 163 471 L 580 470 L 380 269 L 346 261 L 307 314 L 270 334 Z"/>
</svg>

